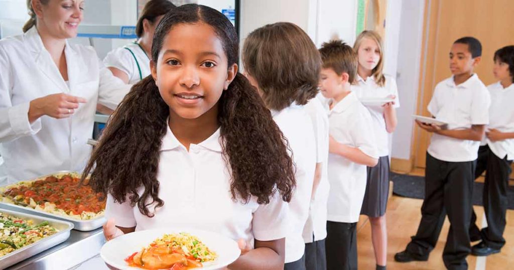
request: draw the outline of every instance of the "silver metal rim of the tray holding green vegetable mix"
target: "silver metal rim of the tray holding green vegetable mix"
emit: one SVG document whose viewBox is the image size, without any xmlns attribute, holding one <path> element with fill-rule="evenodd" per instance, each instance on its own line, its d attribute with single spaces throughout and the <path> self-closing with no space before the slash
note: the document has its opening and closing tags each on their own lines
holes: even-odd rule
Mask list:
<svg viewBox="0 0 514 270">
<path fill-rule="evenodd" d="M 35 243 L 32 243 L 28 246 L 25 246 L 20 249 L 16 249 L 11 253 L 0 257 L 0 269 L 5 269 L 15 263 L 21 262 L 29 257 L 32 257 L 44 250 L 47 250 L 53 246 L 56 246 L 69 238 L 70 230 L 73 228 L 73 224 L 66 221 L 47 219 L 38 217 L 37 215 L 25 214 L 15 211 L 9 211 L 5 209 L 0 209 L 0 212 L 11 215 L 12 217 L 24 219 L 24 220 L 32 220 L 34 223 L 41 223 L 44 221 L 48 221 L 49 225 L 58 229 L 54 235 L 49 237 L 45 237 Z"/>
</svg>

